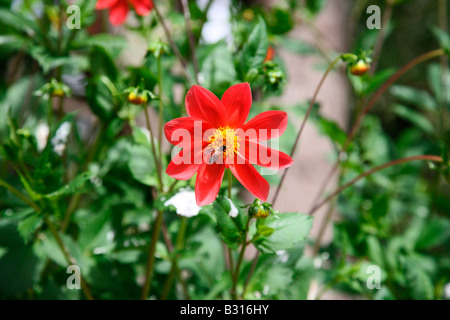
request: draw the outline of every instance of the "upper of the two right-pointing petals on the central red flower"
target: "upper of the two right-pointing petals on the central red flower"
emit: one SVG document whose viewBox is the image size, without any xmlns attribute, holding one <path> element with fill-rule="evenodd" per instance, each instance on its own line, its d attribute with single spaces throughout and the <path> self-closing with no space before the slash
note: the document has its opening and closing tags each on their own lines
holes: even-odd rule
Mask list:
<svg viewBox="0 0 450 320">
<path fill-rule="evenodd" d="M 266 111 L 258 114 L 242 126 L 249 140 L 264 141 L 278 138 L 287 127 L 287 113 Z M 252 130 L 253 129 L 253 130 Z"/>
</svg>

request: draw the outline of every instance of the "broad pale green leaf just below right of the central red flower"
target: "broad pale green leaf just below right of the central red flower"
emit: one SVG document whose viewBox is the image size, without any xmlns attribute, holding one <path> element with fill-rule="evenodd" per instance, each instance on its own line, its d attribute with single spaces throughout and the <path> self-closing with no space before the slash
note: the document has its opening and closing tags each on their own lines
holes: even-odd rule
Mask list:
<svg viewBox="0 0 450 320">
<path fill-rule="evenodd" d="M 258 222 L 274 231 L 266 237 L 261 237 L 255 245 L 263 253 L 275 253 L 287 250 L 305 241 L 311 231 L 313 218 L 296 212 L 270 215 Z"/>
</svg>

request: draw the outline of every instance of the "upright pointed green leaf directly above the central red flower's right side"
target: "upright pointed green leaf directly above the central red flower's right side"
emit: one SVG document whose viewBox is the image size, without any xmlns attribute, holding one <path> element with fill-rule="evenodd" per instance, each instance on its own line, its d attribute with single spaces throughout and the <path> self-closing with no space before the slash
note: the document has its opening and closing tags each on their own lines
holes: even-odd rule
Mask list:
<svg viewBox="0 0 450 320">
<path fill-rule="evenodd" d="M 241 69 L 245 75 L 244 79 L 254 72 L 252 70 L 259 70 L 262 67 L 268 47 L 266 24 L 259 17 L 258 24 L 253 28 L 242 49 Z"/>
</svg>

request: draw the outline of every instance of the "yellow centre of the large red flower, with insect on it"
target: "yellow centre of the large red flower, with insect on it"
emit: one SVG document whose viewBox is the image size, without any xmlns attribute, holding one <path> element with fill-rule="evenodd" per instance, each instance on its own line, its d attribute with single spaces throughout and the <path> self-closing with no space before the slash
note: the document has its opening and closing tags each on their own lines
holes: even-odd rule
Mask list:
<svg viewBox="0 0 450 320">
<path fill-rule="evenodd" d="M 229 127 L 220 127 L 215 129 L 209 137 L 209 145 L 206 152 L 211 154 L 209 163 L 221 163 L 218 160 L 232 161 L 240 148 L 240 137 L 236 131 Z"/>
</svg>

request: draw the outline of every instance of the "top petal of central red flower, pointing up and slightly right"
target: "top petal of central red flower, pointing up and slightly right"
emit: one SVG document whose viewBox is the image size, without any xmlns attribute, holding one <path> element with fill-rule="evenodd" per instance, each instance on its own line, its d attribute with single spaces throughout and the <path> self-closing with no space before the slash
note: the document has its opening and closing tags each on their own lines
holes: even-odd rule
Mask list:
<svg viewBox="0 0 450 320">
<path fill-rule="evenodd" d="M 247 120 L 252 106 L 252 91 L 250 85 L 238 83 L 225 91 L 222 103 L 228 114 L 228 126 L 239 128 Z"/>
</svg>

